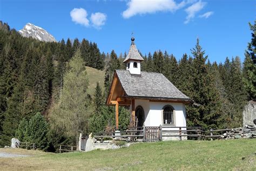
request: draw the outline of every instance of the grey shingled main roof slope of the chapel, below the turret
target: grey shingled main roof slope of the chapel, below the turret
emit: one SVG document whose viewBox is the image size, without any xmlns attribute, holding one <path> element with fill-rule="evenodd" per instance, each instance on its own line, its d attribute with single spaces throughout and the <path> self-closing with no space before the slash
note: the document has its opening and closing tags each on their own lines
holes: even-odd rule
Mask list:
<svg viewBox="0 0 256 171">
<path fill-rule="evenodd" d="M 176 99 L 192 101 L 179 91 L 163 74 L 141 72 L 132 75 L 129 70 L 116 70 L 118 79 L 128 97 L 149 99 Z"/>
</svg>

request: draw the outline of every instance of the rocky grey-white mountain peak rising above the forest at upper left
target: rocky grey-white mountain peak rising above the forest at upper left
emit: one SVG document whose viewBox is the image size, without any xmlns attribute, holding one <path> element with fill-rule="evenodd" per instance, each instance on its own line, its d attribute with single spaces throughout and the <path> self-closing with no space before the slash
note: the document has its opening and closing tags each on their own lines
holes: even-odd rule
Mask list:
<svg viewBox="0 0 256 171">
<path fill-rule="evenodd" d="M 24 37 L 32 37 L 41 41 L 56 41 L 55 38 L 41 27 L 31 23 L 26 24 L 19 33 Z"/>
</svg>

